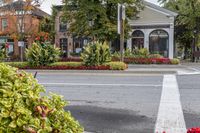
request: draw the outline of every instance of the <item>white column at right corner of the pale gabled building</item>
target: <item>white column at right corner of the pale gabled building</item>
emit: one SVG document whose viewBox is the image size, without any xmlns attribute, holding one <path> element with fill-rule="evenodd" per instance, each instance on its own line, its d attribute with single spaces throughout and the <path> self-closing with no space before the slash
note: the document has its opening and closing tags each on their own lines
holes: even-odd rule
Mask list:
<svg viewBox="0 0 200 133">
<path fill-rule="evenodd" d="M 174 58 L 174 24 L 170 24 L 169 29 L 169 58 Z"/>
</svg>

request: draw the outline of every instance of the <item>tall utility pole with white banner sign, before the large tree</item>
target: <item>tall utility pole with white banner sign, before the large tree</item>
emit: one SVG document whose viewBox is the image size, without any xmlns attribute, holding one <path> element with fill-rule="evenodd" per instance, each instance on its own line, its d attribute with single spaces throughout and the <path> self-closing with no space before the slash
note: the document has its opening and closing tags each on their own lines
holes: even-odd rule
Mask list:
<svg viewBox="0 0 200 133">
<path fill-rule="evenodd" d="M 124 62 L 124 22 L 125 6 L 118 4 L 118 34 L 120 34 L 120 61 Z"/>
</svg>

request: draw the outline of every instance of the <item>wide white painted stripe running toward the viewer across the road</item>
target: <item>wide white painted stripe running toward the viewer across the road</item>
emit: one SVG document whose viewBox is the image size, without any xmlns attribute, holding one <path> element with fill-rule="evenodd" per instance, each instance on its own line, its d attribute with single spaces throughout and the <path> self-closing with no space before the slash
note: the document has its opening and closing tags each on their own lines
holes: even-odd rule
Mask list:
<svg viewBox="0 0 200 133">
<path fill-rule="evenodd" d="M 155 133 L 186 133 L 186 125 L 175 75 L 164 75 Z"/>
</svg>

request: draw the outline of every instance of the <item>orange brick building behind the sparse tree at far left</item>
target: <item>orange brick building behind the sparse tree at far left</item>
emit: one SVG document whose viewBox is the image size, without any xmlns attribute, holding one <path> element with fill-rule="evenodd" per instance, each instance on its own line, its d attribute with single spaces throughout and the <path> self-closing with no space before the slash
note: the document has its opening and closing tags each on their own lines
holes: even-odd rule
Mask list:
<svg viewBox="0 0 200 133">
<path fill-rule="evenodd" d="M 25 49 L 34 40 L 31 34 L 37 33 L 42 18 L 49 16 L 39 8 L 24 13 L 19 8 L 23 4 L 21 1 L 16 1 L 6 5 L 7 7 L 0 7 L 0 47 L 7 43 L 9 45 L 8 55 L 11 58 L 19 58 L 20 54 L 24 54 Z M 8 11 L 9 9 L 12 11 Z M 19 34 L 26 36 L 22 40 L 23 46 L 18 43 Z"/>
</svg>

